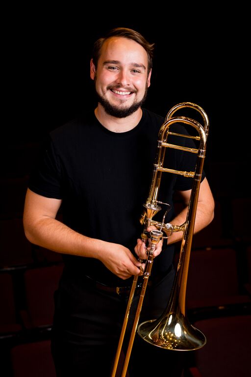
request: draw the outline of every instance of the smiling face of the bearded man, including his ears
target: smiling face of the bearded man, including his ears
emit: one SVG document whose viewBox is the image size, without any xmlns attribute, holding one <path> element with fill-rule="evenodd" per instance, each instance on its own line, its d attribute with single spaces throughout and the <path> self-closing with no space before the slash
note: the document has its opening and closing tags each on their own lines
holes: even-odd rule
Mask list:
<svg viewBox="0 0 251 377">
<path fill-rule="evenodd" d="M 124 118 L 144 102 L 150 86 L 148 55 L 137 42 L 112 37 L 101 48 L 98 67 L 91 61 L 91 78 L 105 111 Z"/>
</svg>

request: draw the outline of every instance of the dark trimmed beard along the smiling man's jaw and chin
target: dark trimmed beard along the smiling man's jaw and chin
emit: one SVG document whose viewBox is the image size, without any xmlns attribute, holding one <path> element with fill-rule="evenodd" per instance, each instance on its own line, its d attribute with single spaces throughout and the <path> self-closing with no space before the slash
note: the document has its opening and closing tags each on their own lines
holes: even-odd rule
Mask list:
<svg viewBox="0 0 251 377">
<path fill-rule="evenodd" d="M 126 118 L 127 116 L 133 114 L 138 108 L 140 108 L 143 103 L 145 102 L 147 98 L 147 93 L 148 93 L 148 86 L 146 84 L 146 90 L 144 97 L 142 98 L 141 101 L 134 101 L 134 103 L 129 106 L 128 108 L 121 108 L 116 105 L 111 105 L 108 100 L 106 100 L 104 97 L 100 96 L 99 93 L 96 91 L 96 97 L 100 105 L 104 108 L 104 111 L 111 116 L 114 116 L 115 118 Z"/>
</svg>

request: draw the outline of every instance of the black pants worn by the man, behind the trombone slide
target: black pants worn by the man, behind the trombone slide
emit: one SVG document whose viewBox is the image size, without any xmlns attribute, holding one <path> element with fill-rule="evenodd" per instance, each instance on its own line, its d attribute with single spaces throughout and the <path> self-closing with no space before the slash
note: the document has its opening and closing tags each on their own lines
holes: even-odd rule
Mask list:
<svg viewBox="0 0 251 377">
<path fill-rule="evenodd" d="M 156 319 L 168 304 L 174 270 L 157 284 L 148 286 L 139 323 Z M 106 293 L 88 283 L 81 288 L 81 299 L 59 292 L 55 300 L 55 320 L 51 350 L 58 377 L 110 377 L 118 347 L 127 298 Z M 131 333 L 138 296 L 134 297 L 125 337 Z M 71 308 L 74 308 L 72 310 Z M 152 346 L 135 335 L 128 373 L 134 376 L 180 376 L 183 352 Z M 118 370 L 120 370 L 119 362 Z M 120 376 L 120 374 L 118 374 Z"/>
</svg>

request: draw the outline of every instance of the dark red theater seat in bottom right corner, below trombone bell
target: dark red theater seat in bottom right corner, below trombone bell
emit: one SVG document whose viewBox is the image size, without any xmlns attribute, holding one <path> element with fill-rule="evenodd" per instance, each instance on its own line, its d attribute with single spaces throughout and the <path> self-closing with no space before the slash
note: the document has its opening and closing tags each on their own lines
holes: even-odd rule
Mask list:
<svg viewBox="0 0 251 377">
<path fill-rule="evenodd" d="M 206 336 L 204 347 L 194 351 L 192 377 L 251 376 L 251 315 L 210 318 L 194 323 Z"/>
</svg>

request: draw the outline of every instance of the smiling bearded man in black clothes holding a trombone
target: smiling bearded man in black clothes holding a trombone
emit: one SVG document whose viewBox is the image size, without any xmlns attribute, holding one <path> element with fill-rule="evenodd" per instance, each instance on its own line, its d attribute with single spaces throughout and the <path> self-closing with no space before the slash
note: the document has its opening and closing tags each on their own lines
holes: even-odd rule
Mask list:
<svg viewBox="0 0 251 377">
<path fill-rule="evenodd" d="M 113 29 L 95 43 L 90 75 L 98 106 L 94 113 L 50 133 L 40 166 L 30 177 L 25 235 L 30 242 L 62 253 L 65 262 L 52 331 L 57 376 L 110 376 L 132 278 L 141 279 L 140 260 L 146 259 L 146 250 L 139 217 L 164 122 L 142 108 L 151 81 L 152 52 L 153 45 L 127 28 Z M 169 159 L 189 171 L 195 158 L 173 152 Z M 186 219 L 192 180 L 163 175 L 168 176 L 163 178 L 163 202 L 172 206 L 165 221 L 180 225 Z M 186 206 L 178 215 L 173 210 L 174 191 Z M 62 222 L 56 219 L 59 209 Z M 213 210 L 203 175 L 195 232 L 210 223 Z M 167 305 L 174 242 L 181 233 L 173 233 L 165 249 L 162 242 L 156 246 L 141 319 L 156 318 Z M 137 288 L 132 308 L 139 293 Z M 180 354 L 152 347 L 136 336 L 130 377 L 152 376 L 162 360 L 168 376 L 179 376 L 182 366 L 174 353 Z"/>
</svg>

